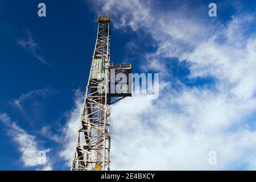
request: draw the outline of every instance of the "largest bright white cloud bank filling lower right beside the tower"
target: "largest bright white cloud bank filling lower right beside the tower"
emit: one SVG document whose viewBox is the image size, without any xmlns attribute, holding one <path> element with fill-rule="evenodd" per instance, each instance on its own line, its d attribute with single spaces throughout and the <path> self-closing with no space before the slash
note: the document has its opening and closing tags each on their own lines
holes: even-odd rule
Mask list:
<svg viewBox="0 0 256 182">
<path fill-rule="evenodd" d="M 165 94 L 156 101 L 133 97 L 112 107 L 113 170 L 251 165 L 256 131 L 243 126 L 246 108 L 205 90 Z M 256 102 L 251 104 L 255 106 Z M 208 164 L 212 150 L 217 152 L 217 166 Z"/>
</svg>

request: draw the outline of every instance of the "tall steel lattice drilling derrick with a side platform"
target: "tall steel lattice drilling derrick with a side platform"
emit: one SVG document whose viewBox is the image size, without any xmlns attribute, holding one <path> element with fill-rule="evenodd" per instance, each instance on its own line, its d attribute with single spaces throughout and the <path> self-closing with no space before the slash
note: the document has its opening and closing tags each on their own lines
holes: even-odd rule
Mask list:
<svg viewBox="0 0 256 182">
<path fill-rule="evenodd" d="M 110 73 L 113 70 L 114 79 Z M 86 86 L 76 150 L 69 166 L 72 171 L 109 170 L 111 98 L 121 97 L 118 99 L 120 100 L 131 96 L 130 80 L 119 88 L 120 92 L 109 93 L 111 87 L 120 81 L 115 77 L 117 73 L 131 73 L 131 64 L 110 63 L 110 16 L 98 15 L 97 39 Z"/>
</svg>

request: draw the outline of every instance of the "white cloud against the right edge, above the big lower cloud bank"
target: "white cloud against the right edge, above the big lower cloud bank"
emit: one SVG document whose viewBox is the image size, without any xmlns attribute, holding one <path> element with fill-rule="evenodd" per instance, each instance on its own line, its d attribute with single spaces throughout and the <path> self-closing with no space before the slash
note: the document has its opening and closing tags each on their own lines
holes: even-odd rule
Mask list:
<svg viewBox="0 0 256 182">
<path fill-rule="evenodd" d="M 192 63 L 191 76 L 213 76 L 220 80 L 222 92 L 249 100 L 256 89 L 256 39 L 254 33 L 241 34 L 254 24 L 251 15 L 236 16 L 228 26 L 203 42 L 188 56 Z M 238 32 L 236 34 L 236 32 Z M 224 39 L 224 42 L 218 39 Z"/>
</svg>

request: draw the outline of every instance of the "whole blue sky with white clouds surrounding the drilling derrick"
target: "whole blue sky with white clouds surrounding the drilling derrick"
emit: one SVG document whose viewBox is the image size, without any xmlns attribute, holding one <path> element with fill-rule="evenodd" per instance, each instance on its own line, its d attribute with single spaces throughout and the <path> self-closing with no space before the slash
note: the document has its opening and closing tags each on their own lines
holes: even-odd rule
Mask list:
<svg viewBox="0 0 256 182">
<path fill-rule="evenodd" d="M 112 60 L 160 77 L 158 100 L 113 106 L 113 169 L 256 169 L 256 2 L 214 1 L 212 18 L 210 2 L 0 1 L 0 169 L 51 169 L 75 104 L 56 168 L 69 169 L 98 13 Z M 46 165 L 28 157 L 41 150 Z"/>
</svg>

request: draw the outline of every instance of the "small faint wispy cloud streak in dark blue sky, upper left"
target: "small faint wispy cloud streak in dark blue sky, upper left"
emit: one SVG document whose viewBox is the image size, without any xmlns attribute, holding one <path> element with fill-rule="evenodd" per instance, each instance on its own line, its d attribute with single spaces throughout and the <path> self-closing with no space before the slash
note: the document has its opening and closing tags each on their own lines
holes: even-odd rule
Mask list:
<svg viewBox="0 0 256 182">
<path fill-rule="evenodd" d="M 49 65 L 49 63 L 47 63 L 47 61 L 43 58 L 43 56 L 38 53 L 40 51 L 40 47 L 35 42 L 35 40 L 32 39 L 32 35 L 31 35 L 30 31 L 26 30 L 26 32 L 27 32 L 27 39 L 19 39 L 17 41 L 17 44 L 19 44 L 24 49 L 26 49 L 27 52 L 31 53 L 31 55 L 36 57 L 36 59 L 41 61 L 43 64 L 52 68 L 52 66 Z"/>
</svg>

